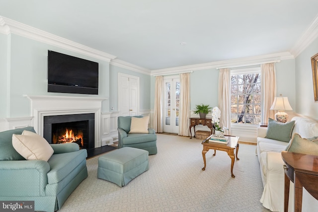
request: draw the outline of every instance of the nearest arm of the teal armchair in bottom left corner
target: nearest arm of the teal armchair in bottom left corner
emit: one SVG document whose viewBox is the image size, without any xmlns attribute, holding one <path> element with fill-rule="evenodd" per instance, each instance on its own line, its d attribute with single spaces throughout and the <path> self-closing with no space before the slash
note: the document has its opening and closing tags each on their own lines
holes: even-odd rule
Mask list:
<svg viewBox="0 0 318 212">
<path fill-rule="evenodd" d="M 1 160 L 0 196 L 45 196 L 50 165 L 44 160 Z"/>
</svg>

